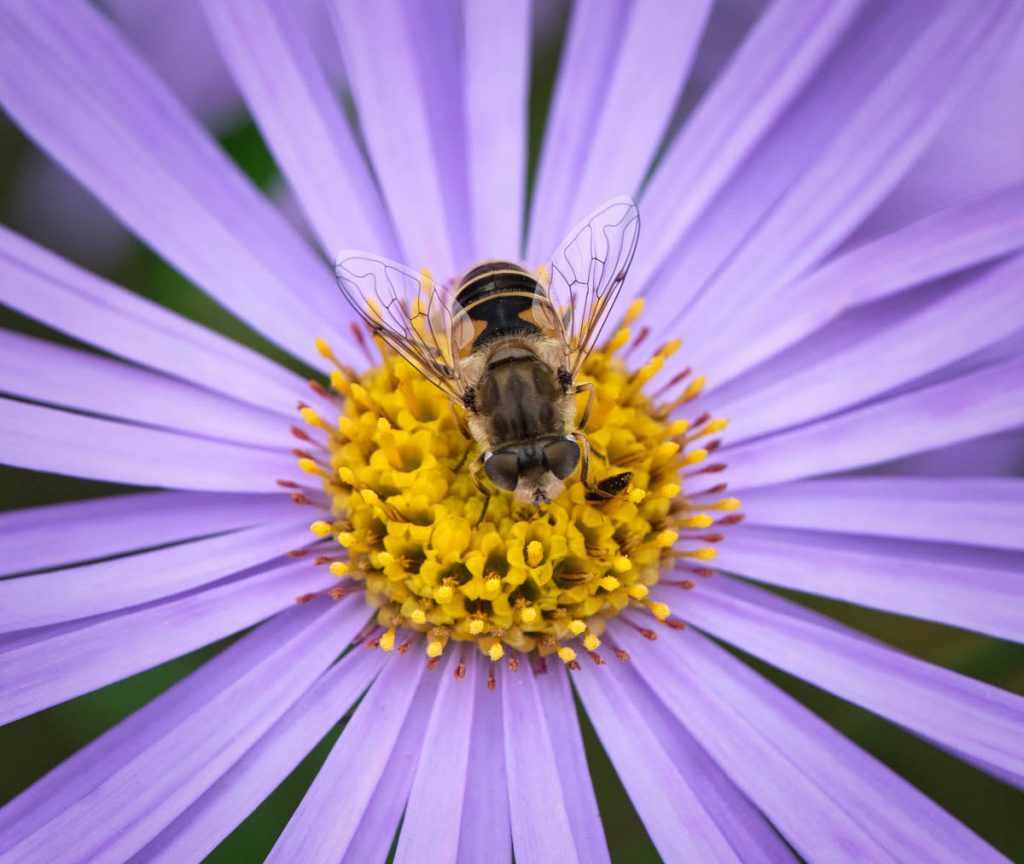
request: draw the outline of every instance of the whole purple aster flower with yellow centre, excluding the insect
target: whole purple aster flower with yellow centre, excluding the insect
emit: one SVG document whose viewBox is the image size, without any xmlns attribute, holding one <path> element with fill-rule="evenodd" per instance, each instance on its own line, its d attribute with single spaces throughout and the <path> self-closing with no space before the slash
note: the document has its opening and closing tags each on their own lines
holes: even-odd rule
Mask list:
<svg viewBox="0 0 1024 864">
<path fill-rule="evenodd" d="M 777 2 L 663 146 L 709 11 L 575 8 L 527 206 L 526 5 L 338 4 L 360 140 L 286 4 L 211 0 L 322 256 L 99 12 L 0 7 L 10 117 L 317 373 L 0 229 L 0 302 L 102 352 L 3 334 L 0 460 L 159 489 L 0 518 L 0 718 L 247 631 L 0 810 L 4 860 L 200 860 L 349 712 L 272 859 L 606 860 L 573 694 L 666 860 L 1000 860 L 724 646 L 1024 779 L 1020 697 L 763 587 L 1024 635 L 1019 480 L 858 473 L 1024 423 L 1024 189 L 850 242 L 1021 9 Z M 623 192 L 582 374 L 633 485 L 481 516 L 327 260 L 538 264 Z"/>
</svg>

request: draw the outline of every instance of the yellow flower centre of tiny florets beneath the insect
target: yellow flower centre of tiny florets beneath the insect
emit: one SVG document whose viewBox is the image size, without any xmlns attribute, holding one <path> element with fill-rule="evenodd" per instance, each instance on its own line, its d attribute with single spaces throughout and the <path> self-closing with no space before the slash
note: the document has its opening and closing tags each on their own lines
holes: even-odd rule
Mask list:
<svg viewBox="0 0 1024 864">
<path fill-rule="evenodd" d="M 321 479 L 330 510 L 310 530 L 334 539 L 334 554 L 318 563 L 330 562 L 342 579 L 335 590 L 361 589 L 375 610 L 369 644 L 404 654 L 419 632 L 431 664 L 449 650 L 464 650 L 451 648 L 461 644 L 494 663 L 518 663 L 517 652 L 555 654 L 575 669 L 581 652 L 603 662 L 597 651 L 606 622 L 624 610 L 649 616 L 651 625 L 679 624 L 669 606 L 649 599 L 651 588 L 663 578 L 677 584 L 679 570 L 710 574 L 696 563 L 713 560 L 708 544 L 724 535 L 702 529 L 719 531 L 737 519 L 709 513 L 740 505 L 722 496 L 724 484 L 698 483 L 708 469 L 690 468 L 718 446 L 692 442 L 707 441 L 726 423 L 687 416 L 686 403 L 705 381 L 665 371 L 680 343 L 664 344 L 646 361 L 634 357 L 649 333 L 640 328 L 631 336 L 641 307 L 629 307 L 578 378 L 594 384 L 584 430 L 591 485 L 578 469 L 543 507 L 498 489 L 485 502 L 469 474 L 478 449 L 460 431 L 461 407 L 453 409 L 446 395 L 389 349 L 382 347 L 377 366 L 357 374 L 316 341 L 317 352 L 338 369 L 333 392 L 319 384 L 313 389 L 330 396 L 337 416 L 325 406 L 330 400 L 316 411 L 300 408 L 308 440 L 324 447 L 303 452 L 299 465 Z M 672 381 L 649 381 L 658 376 Z M 585 402 L 582 393 L 579 415 Z M 628 484 L 613 482 L 622 475 Z M 601 491 L 605 480 L 611 482 L 603 489 L 612 491 Z M 620 655 L 613 645 L 606 650 Z"/>
</svg>

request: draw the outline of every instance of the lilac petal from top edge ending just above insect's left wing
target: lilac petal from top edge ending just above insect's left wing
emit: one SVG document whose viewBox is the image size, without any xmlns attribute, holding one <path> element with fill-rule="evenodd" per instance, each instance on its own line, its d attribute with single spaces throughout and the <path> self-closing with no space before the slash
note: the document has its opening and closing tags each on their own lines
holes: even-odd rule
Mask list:
<svg viewBox="0 0 1024 864">
<path fill-rule="evenodd" d="M 207 19 L 321 248 L 394 256 L 391 223 L 292 6 L 204 3 Z"/>
</svg>

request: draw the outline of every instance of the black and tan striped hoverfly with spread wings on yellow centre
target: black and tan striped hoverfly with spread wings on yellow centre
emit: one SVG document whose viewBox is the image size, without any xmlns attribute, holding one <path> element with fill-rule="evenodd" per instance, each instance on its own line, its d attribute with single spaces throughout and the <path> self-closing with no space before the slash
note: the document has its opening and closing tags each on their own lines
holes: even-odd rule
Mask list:
<svg viewBox="0 0 1024 864">
<path fill-rule="evenodd" d="M 470 474 L 484 513 L 489 492 L 481 469 L 534 506 L 561 492 L 581 462 L 591 501 L 628 486 L 628 473 L 589 482 L 584 428 L 594 386 L 577 376 L 623 287 L 639 231 L 636 204 L 612 199 L 569 232 L 539 274 L 487 261 L 451 287 L 377 256 L 338 256 L 335 273 L 355 311 L 447 394 L 460 428 L 479 445 Z M 587 402 L 578 423 L 582 392 Z"/>
</svg>

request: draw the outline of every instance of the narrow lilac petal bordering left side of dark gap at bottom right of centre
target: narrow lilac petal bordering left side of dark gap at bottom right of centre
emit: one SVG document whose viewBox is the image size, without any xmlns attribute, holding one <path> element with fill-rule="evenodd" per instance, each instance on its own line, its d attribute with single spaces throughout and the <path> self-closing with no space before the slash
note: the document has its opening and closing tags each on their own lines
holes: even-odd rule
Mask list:
<svg viewBox="0 0 1024 864">
<path fill-rule="evenodd" d="M 577 719 L 575 703 L 563 665 L 549 664 L 547 675 L 537 676 L 537 689 L 548 721 L 548 732 L 555 746 L 558 779 L 565 794 L 565 812 L 575 839 L 577 852 L 587 862 L 608 860 L 601 814 L 597 809 L 594 786 L 587 768 L 587 753 Z"/>
</svg>

